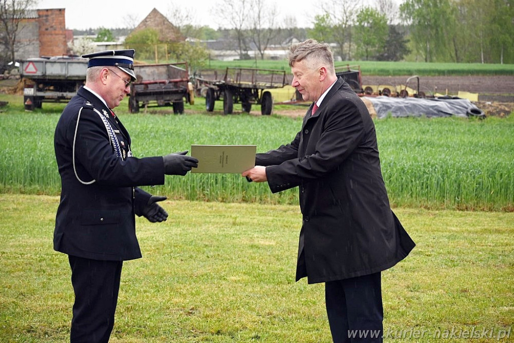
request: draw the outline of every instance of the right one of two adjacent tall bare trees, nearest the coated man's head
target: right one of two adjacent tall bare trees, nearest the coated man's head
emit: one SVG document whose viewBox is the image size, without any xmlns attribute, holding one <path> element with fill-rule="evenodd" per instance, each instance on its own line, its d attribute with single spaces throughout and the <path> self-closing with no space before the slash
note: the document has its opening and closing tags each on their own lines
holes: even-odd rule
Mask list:
<svg viewBox="0 0 514 343">
<path fill-rule="evenodd" d="M 266 0 L 254 0 L 252 27 L 250 29 L 253 44 L 261 60 L 264 60 L 264 52 L 268 48 L 270 42 L 275 39 L 280 33 L 280 28 L 276 26 L 275 21 L 277 20 L 277 7 L 268 7 Z"/>
</svg>

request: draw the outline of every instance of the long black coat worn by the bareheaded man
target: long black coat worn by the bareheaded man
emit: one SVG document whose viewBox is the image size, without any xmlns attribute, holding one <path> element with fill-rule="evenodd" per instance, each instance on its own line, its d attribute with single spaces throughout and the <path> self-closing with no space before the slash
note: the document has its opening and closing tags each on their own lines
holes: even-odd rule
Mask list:
<svg viewBox="0 0 514 343">
<path fill-rule="evenodd" d="M 368 109 L 341 78 L 312 116 L 311 107 L 291 143 L 255 161 L 267 166 L 273 193 L 299 187 L 296 279 L 326 282 L 390 268 L 415 244 L 390 208 Z"/>
</svg>

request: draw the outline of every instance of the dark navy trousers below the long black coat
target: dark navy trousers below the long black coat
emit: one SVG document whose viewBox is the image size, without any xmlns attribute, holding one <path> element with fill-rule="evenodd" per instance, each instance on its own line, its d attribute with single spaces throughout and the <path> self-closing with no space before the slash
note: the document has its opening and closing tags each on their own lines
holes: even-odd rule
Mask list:
<svg viewBox="0 0 514 343">
<path fill-rule="evenodd" d="M 325 282 L 325 303 L 334 343 L 382 342 L 381 273 Z"/>
</svg>

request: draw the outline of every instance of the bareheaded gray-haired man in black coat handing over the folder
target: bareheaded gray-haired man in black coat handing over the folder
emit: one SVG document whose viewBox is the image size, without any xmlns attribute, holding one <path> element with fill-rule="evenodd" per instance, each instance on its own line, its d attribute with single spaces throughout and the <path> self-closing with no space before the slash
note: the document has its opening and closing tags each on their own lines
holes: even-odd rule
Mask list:
<svg viewBox="0 0 514 343">
<path fill-rule="evenodd" d="M 299 187 L 296 280 L 325 282 L 334 342 L 381 342 L 381 271 L 415 244 L 390 208 L 373 120 L 337 78 L 329 47 L 315 40 L 292 45 L 289 66 L 292 86 L 313 104 L 295 139 L 257 154 L 242 175 L 267 181 L 273 193 Z"/>
</svg>

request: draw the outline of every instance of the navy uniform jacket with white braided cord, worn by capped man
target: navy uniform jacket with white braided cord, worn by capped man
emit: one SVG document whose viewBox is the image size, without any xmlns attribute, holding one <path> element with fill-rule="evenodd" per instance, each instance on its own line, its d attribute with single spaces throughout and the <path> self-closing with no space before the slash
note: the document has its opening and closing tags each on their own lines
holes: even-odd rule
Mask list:
<svg viewBox="0 0 514 343">
<path fill-rule="evenodd" d="M 105 124 L 93 108 L 107 117 L 122 156 L 115 154 Z M 119 119 L 95 95 L 80 88 L 66 105 L 54 134 L 62 188 L 55 250 L 95 260 L 141 257 L 135 214 L 141 215 L 151 194 L 135 186 L 163 184 L 164 163 L 162 157 L 128 157 L 130 146 L 130 135 Z M 83 184 L 78 178 L 84 183 L 96 181 Z"/>
</svg>

